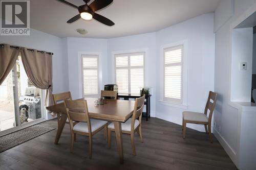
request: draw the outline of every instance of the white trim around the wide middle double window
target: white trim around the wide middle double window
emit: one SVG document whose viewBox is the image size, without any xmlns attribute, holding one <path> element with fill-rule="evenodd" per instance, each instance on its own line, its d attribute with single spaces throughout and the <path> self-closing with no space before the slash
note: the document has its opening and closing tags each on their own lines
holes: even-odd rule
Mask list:
<svg viewBox="0 0 256 170">
<path fill-rule="evenodd" d="M 146 78 L 147 74 L 146 74 L 146 70 L 147 70 L 147 56 L 148 56 L 148 48 L 141 48 L 141 49 L 137 49 L 137 50 L 125 50 L 125 51 L 114 51 L 112 52 L 112 82 L 116 82 L 116 60 L 115 60 L 115 56 L 116 55 L 122 55 L 122 54 L 136 54 L 136 53 L 144 53 L 144 87 L 147 85 L 146 80 L 148 80 Z"/>
</svg>

